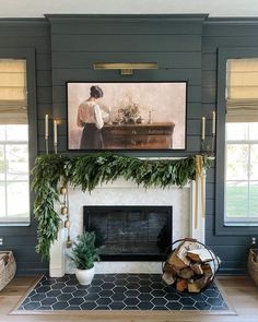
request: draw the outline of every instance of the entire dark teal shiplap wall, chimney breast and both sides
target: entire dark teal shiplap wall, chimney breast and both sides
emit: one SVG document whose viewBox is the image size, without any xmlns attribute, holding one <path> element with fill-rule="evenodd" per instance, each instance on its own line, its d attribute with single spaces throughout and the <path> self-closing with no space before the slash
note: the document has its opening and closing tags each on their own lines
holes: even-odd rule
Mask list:
<svg viewBox="0 0 258 322">
<path fill-rule="evenodd" d="M 44 116 L 61 121 L 58 151 L 67 151 L 67 81 L 188 81 L 187 150 L 127 152 L 140 156 L 186 156 L 200 151 L 201 116 L 216 109 L 219 47 L 258 45 L 258 20 L 250 23 L 207 20 L 206 15 L 48 15 L 46 20 L 0 21 L 0 47 L 36 49 L 38 154 L 45 152 Z M 96 61 L 156 61 L 157 71 L 94 71 Z M 50 129 L 51 130 L 51 129 Z M 50 140 L 51 143 L 51 140 Z M 51 147 L 51 146 L 50 146 Z M 207 177 L 207 243 L 223 260 L 222 272 L 245 269 L 249 236 L 215 236 L 215 164 Z M 4 247 L 13 249 L 21 273 L 45 270 L 35 254 L 32 227 L 3 228 Z"/>
</svg>

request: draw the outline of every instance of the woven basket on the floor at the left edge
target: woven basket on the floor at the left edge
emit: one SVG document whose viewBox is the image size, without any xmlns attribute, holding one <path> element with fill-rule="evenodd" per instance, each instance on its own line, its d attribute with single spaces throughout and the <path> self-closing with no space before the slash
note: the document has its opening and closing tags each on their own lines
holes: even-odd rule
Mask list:
<svg viewBox="0 0 258 322">
<path fill-rule="evenodd" d="M 0 290 L 14 277 L 16 263 L 11 251 L 0 251 Z"/>
</svg>

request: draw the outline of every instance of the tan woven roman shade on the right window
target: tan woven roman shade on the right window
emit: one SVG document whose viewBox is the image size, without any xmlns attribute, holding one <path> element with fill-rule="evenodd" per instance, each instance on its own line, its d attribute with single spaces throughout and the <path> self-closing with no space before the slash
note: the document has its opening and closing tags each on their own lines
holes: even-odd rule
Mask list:
<svg viewBox="0 0 258 322">
<path fill-rule="evenodd" d="M 258 58 L 227 60 L 226 121 L 258 122 Z"/>
</svg>

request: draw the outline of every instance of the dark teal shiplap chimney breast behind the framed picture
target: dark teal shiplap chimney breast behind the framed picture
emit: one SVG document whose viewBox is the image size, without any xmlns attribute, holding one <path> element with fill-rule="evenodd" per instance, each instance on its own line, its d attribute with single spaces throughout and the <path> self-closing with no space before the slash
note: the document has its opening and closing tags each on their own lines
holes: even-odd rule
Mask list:
<svg viewBox="0 0 258 322">
<path fill-rule="evenodd" d="M 203 15 L 185 19 L 50 15 L 48 19 L 51 24 L 52 111 L 62 121 L 59 151 L 67 151 L 67 81 L 160 80 L 188 81 L 187 153 L 199 151 Z M 94 71 L 96 61 L 156 61 L 159 70 L 136 71 L 131 76 L 121 76 L 118 71 Z M 150 155 L 146 152 L 134 155 L 139 154 Z"/>
</svg>

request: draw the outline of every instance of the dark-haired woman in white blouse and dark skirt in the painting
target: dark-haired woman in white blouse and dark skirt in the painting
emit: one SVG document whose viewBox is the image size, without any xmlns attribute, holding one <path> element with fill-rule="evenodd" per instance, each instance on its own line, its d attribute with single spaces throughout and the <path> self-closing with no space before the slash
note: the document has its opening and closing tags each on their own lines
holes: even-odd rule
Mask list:
<svg viewBox="0 0 258 322">
<path fill-rule="evenodd" d="M 78 108 L 78 127 L 82 127 L 80 148 L 103 148 L 102 128 L 104 120 L 97 105 L 97 99 L 103 97 L 99 86 L 92 86 L 90 97 L 83 100 Z"/>
</svg>

